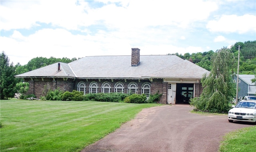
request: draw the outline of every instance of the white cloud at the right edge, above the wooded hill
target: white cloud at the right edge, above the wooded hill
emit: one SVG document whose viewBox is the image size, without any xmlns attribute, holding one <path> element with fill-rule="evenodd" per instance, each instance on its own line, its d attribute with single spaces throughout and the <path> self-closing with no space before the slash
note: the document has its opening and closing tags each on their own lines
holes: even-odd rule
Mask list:
<svg viewBox="0 0 256 152">
<path fill-rule="evenodd" d="M 237 32 L 243 34 L 246 32 L 256 32 L 256 16 L 245 14 L 237 15 L 222 15 L 219 20 L 211 20 L 206 28 L 212 32 Z"/>
</svg>

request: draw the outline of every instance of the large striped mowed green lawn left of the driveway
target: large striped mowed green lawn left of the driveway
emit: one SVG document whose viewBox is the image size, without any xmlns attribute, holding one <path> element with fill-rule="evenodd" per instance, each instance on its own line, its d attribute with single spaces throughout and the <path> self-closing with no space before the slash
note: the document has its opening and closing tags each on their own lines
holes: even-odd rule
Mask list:
<svg viewBox="0 0 256 152">
<path fill-rule="evenodd" d="M 76 152 L 159 104 L 1 100 L 1 152 Z"/>
</svg>

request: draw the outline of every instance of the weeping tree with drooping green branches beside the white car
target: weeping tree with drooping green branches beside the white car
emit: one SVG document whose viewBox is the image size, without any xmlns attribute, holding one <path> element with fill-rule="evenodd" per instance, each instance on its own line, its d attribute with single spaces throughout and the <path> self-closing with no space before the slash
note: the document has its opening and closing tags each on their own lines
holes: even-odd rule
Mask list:
<svg viewBox="0 0 256 152">
<path fill-rule="evenodd" d="M 230 101 L 235 96 L 236 88 L 231 74 L 234 68 L 233 54 L 228 48 L 218 50 L 212 56 L 212 70 L 201 79 L 202 94 L 192 98 L 190 105 L 208 112 L 227 112 Z"/>
</svg>

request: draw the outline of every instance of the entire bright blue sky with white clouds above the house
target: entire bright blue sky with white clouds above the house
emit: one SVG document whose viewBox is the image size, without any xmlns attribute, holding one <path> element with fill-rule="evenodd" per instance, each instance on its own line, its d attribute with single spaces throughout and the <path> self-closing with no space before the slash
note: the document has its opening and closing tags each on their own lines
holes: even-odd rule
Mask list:
<svg viewBox="0 0 256 152">
<path fill-rule="evenodd" d="M 216 51 L 256 40 L 256 0 L 1 0 L 0 51 L 36 57 Z"/>
</svg>

